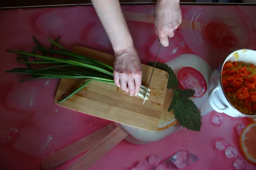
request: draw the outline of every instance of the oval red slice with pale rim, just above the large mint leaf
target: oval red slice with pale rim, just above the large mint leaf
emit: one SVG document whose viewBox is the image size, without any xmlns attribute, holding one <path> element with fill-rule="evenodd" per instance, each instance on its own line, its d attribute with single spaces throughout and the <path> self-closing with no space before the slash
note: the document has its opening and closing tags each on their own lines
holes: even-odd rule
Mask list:
<svg viewBox="0 0 256 170">
<path fill-rule="evenodd" d="M 207 83 L 204 76 L 192 67 L 183 67 L 179 71 L 178 79 L 183 89 L 193 89 L 194 97 L 201 97 L 207 91 Z"/>
</svg>

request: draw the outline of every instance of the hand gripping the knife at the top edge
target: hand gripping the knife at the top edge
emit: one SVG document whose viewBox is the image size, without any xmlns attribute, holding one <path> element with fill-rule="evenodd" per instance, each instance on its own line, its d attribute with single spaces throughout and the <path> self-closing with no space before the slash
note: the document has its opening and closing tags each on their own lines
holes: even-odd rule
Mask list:
<svg viewBox="0 0 256 170">
<path fill-rule="evenodd" d="M 179 0 L 157 0 L 154 10 L 154 24 L 158 39 L 163 46 L 169 45 L 168 37 L 174 36 L 174 31 L 182 20 Z"/>
</svg>

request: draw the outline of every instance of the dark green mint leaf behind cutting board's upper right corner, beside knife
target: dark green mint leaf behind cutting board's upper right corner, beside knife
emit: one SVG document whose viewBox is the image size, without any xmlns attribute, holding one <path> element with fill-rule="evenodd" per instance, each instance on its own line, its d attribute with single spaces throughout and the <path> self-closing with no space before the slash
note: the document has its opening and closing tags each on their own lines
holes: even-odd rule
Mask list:
<svg viewBox="0 0 256 170">
<path fill-rule="evenodd" d="M 151 67 L 154 67 L 154 62 L 148 62 L 148 65 Z M 169 74 L 167 88 L 175 88 L 179 85 L 179 81 L 178 81 L 174 71 L 167 64 L 165 64 L 163 62 L 157 62 L 156 68 L 166 71 Z"/>
</svg>

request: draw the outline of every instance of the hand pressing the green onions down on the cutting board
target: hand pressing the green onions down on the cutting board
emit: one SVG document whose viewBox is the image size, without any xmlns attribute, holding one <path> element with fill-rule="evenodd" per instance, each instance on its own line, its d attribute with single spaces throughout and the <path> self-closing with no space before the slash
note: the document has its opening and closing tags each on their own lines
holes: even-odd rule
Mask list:
<svg viewBox="0 0 256 170">
<path fill-rule="evenodd" d="M 141 62 L 134 45 L 115 51 L 114 81 L 116 86 L 130 96 L 137 96 L 141 85 Z"/>
</svg>

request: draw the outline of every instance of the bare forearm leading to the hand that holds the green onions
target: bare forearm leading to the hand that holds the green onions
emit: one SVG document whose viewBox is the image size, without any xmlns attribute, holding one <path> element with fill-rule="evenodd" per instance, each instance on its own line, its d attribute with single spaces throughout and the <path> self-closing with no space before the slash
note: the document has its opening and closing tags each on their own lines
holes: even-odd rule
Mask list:
<svg viewBox="0 0 256 170">
<path fill-rule="evenodd" d="M 133 45 L 119 0 L 91 0 L 114 51 Z"/>
</svg>

